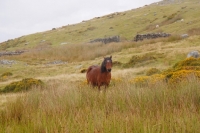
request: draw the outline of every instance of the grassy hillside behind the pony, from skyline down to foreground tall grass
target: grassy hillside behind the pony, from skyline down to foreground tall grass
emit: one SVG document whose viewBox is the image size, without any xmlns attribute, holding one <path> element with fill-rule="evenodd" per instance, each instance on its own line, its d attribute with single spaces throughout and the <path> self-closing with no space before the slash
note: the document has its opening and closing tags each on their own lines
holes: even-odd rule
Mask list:
<svg viewBox="0 0 200 133">
<path fill-rule="evenodd" d="M 129 62 L 133 56 L 155 56 L 156 61 L 132 66 L 131 69 L 114 65 L 116 71 L 126 70 L 130 74 L 132 72 L 129 71 L 133 71 L 132 77 L 144 75 L 146 70 L 155 66 L 164 70 L 184 59 L 188 52 L 199 49 L 199 4 L 197 0 L 182 3 L 162 1 L 3 42 L 0 45 L 1 54 L 24 52 L 0 56 L 0 72 L 12 72 L 14 75 L 1 84 L 4 86 L 8 81 L 29 77 L 48 80 L 65 77 L 66 74 L 79 75 L 84 79 L 80 71 L 89 64 L 100 64 L 106 55 L 113 55 L 113 60 L 120 63 Z M 156 25 L 159 27 L 156 28 Z M 172 36 L 132 41 L 137 33 L 158 32 Z M 180 38 L 185 33 L 189 34 L 189 38 Z M 121 42 L 106 45 L 87 43 L 91 39 L 113 35 L 119 35 Z"/>
</svg>

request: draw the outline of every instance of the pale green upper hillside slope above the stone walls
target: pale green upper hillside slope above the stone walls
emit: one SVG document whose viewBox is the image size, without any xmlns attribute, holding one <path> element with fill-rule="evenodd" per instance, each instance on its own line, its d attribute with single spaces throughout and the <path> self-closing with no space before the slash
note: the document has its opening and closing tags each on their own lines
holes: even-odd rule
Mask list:
<svg viewBox="0 0 200 133">
<path fill-rule="evenodd" d="M 52 27 L 49 31 L 22 36 L 1 43 L 1 50 L 29 49 L 37 45 L 52 46 L 87 43 L 96 38 L 119 35 L 133 40 L 139 33 L 165 32 L 185 34 L 200 24 L 199 1 L 167 0 L 124 12 L 115 12 L 81 23 Z M 159 25 L 159 28 L 156 28 Z"/>
</svg>

